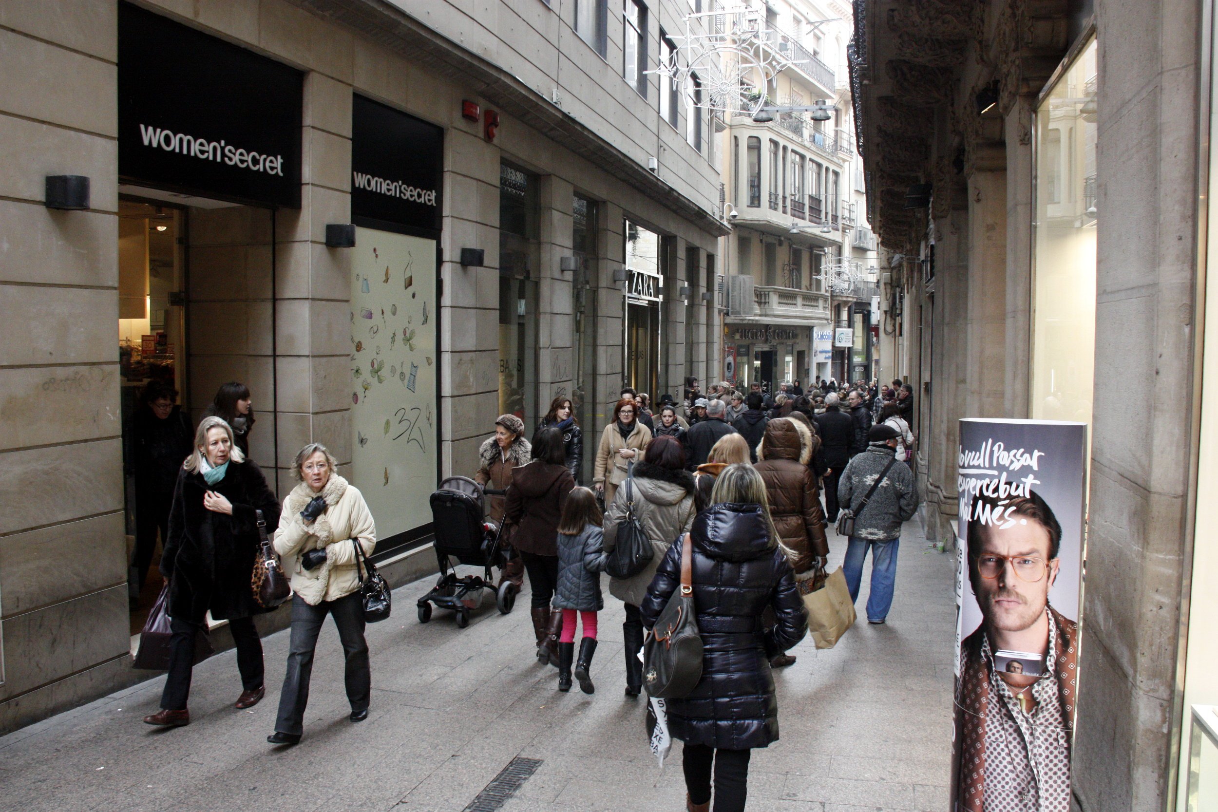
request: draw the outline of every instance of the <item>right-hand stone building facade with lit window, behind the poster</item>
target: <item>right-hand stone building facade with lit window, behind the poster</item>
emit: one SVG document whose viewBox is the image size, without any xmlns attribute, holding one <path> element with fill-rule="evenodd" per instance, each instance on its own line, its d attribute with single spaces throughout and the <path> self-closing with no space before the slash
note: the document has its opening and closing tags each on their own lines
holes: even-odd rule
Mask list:
<svg viewBox="0 0 1218 812">
<path fill-rule="evenodd" d="M 1073 802 L 1183 810 L 1218 688 L 1196 581 L 1212 4 L 857 0 L 855 21 L 883 377 L 915 385 L 928 533 L 952 544 L 959 419 L 1089 424 Z"/>
</svg>

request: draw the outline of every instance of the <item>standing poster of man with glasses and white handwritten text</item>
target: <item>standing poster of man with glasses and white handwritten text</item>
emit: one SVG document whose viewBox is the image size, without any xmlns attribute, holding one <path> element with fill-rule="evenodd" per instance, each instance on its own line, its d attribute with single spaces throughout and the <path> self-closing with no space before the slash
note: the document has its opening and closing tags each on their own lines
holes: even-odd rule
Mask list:
<svg viewBox="0 0 1218 812">
<path fill-rule="evenodd" d="M 1068 812 L 1086 425 L 961 420 L 952 810 Z"/>
</svg>

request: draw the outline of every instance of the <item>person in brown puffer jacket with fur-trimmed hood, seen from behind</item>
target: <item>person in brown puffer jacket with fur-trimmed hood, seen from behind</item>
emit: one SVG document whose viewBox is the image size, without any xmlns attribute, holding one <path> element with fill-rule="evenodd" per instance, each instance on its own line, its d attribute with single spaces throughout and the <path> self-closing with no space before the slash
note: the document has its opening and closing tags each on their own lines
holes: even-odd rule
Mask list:
<svg viewBox="0 0 1218 812">
<path fill-rule="evenodd" d="M 756 469 L 770 497 L 773 526 L 798 576 L 829 554 L 825 538 L 820 487 L 809 467 L 815 436 L 799 420 L 778 418 L 766 426 L 758 446 Z"/>
</svg>

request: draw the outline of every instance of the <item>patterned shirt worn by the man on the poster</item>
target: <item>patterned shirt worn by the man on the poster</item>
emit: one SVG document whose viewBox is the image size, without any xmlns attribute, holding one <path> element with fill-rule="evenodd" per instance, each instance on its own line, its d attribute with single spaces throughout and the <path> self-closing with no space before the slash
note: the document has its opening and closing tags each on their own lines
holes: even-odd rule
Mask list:
<svg viewBox="0 0 1218 812">
<path fill-rule="evenodd" d="M 982 643 L 989 663 L 985 715 L 985 812 L 1069 812 L 1069 730 L 1058 701 L 1058 676 L 1051 665 L 1032 687 L 1030 712 L 994 668 L 989 638 Z M 1057 659 L 1057 629 L 1050 618 L 1049 656 Z"/>
</svg>

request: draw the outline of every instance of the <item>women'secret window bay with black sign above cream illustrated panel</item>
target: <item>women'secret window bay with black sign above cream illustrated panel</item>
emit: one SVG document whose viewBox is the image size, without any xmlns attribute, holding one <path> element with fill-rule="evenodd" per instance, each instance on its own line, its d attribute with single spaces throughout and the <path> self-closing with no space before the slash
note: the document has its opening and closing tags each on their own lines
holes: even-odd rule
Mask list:
<svg viewBox="0 0 1218 812">
<path fill-rule="evenodd" d="M 385 550 L 430 532 L 440 471 L 443 130 L 358 95 L 352 119 L 352 478 Z"/>
</svg>

